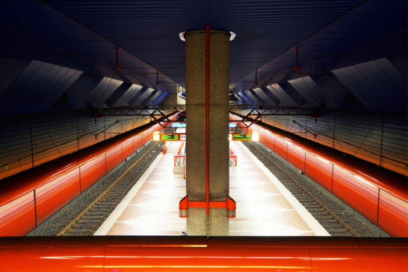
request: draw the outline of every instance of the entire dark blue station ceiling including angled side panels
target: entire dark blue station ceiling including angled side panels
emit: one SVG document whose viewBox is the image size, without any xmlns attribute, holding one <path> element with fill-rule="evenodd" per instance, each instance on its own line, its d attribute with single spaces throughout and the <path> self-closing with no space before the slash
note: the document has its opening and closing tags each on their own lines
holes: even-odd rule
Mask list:
<svg viewBox="0 0 408 272">
<path fill-rule="evenodd" d="M 24 100 L 0 105 L 0 114 L 46 111 L 64 103 L 72 110 L 163 103 L 177 84 L 185 85 L 179 33 L 208 23 L 237 34 L 231 42 L 230 82 L 244 104 L 342 109 L 347 101 L 358 101 L 362 110 L 392 111 L 398 104 L 392 100 L 406 96 L 406 0 L 213 0 L 211 8 L 209 0 L 0 3 L 0 77 L 9 84 L 2 89 L 0 83 L 0 98 Z M 122 67 L 117 72 L 116 46 Z M 293 69 L 296 46 L 300 73 Z M 40 62 L 41 68 L 30 73 Z M 390 65 L 391 74 L 378 71 Z M 68 79 L 65 70 L 74 76 Z M 356 83 L 364 72 L 375 74 L 373 80 Z M 390 82 L 376 78 L 383 76 L 395 80 L 396 91 L 377 88 L 377 97 L 364 101 L 376 86 L 372 82 Z M 55 78 L 66 82 L 54 83 Z M 81 93 L 84 86 L 87 93 Z M 333 92 L 324 94 L 326 88 Z M 379 100 L 387 95 L 382 105 Z M 39 104 L 41 97 L 47 102 Z M 30 110 L 19 111 L 23 105 Z"/>
</svg>

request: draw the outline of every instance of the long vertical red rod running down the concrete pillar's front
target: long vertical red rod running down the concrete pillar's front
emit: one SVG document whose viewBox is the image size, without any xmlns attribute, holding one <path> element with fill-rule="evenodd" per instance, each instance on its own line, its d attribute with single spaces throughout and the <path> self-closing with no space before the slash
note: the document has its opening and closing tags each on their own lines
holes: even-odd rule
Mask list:
<svg viewBox="0 0 408 272">
<path fill-rule="evenodd" d="M 210 161 L 210 25 L 206 26 L 206 214 L 210 214 L 210 186 L 209 186 L 209 161 Z"/>
</svg>

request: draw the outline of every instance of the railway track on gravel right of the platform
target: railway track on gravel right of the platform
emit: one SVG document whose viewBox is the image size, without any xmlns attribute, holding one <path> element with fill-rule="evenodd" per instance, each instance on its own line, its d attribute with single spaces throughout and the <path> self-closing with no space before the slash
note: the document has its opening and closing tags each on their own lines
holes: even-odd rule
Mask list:
<svg viewBox="0 0 408 272">
<path fill-rule="evenodd" d="M 296 197 L 331 236 L 360 236 L 358 232 L 347 225 L 347 222 L 343 221 L 336 213 L 319 201 L 317 197 L 292 178 L 285 169 L 273 162 L 256 145 L 251 142 L 244 142 L 244 145 Z"/>
</svg>

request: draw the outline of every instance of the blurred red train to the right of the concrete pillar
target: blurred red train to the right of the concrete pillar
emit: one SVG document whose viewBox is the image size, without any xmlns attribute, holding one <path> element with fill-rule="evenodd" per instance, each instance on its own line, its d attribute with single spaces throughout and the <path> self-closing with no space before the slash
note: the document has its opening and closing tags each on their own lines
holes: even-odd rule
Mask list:
<svg viewBox="0 0 408 272">
<path fill-rule="evenodd" d="M 242 117 L 230 114 L 230 119 Z M 258 132 L 259 142 L 269 150 L 391 236 L 408 237 L 407 177 L 264 123 L 258 124 L 250 126 L 247 132 Z"/>
</svg>

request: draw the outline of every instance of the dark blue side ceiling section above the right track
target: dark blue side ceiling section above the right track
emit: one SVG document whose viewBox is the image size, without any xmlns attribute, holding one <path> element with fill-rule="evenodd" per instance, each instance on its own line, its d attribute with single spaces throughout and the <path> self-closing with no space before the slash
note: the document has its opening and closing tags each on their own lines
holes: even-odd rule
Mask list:
<svg viewBox="0 0 408 272">
<path fill-rule="evenodd" d="M 260 87 L 304 76 L 321 76 L 331 70 L 389 58 L 407 56 L 408 2 L 371 0 L 317 32 L 299 46 L 300 73 L 293 69 L 296 50 L 282 52 L 258 69 Z M 396 64 L 397 65 L 397 64 Z M 401 65 L 400 65 L 401 66 Z M 400 68 L 406 75 L 406 61 Z M 256 88 L 251 72 L 232 86 L 234 90 Z"/>
</svg>

